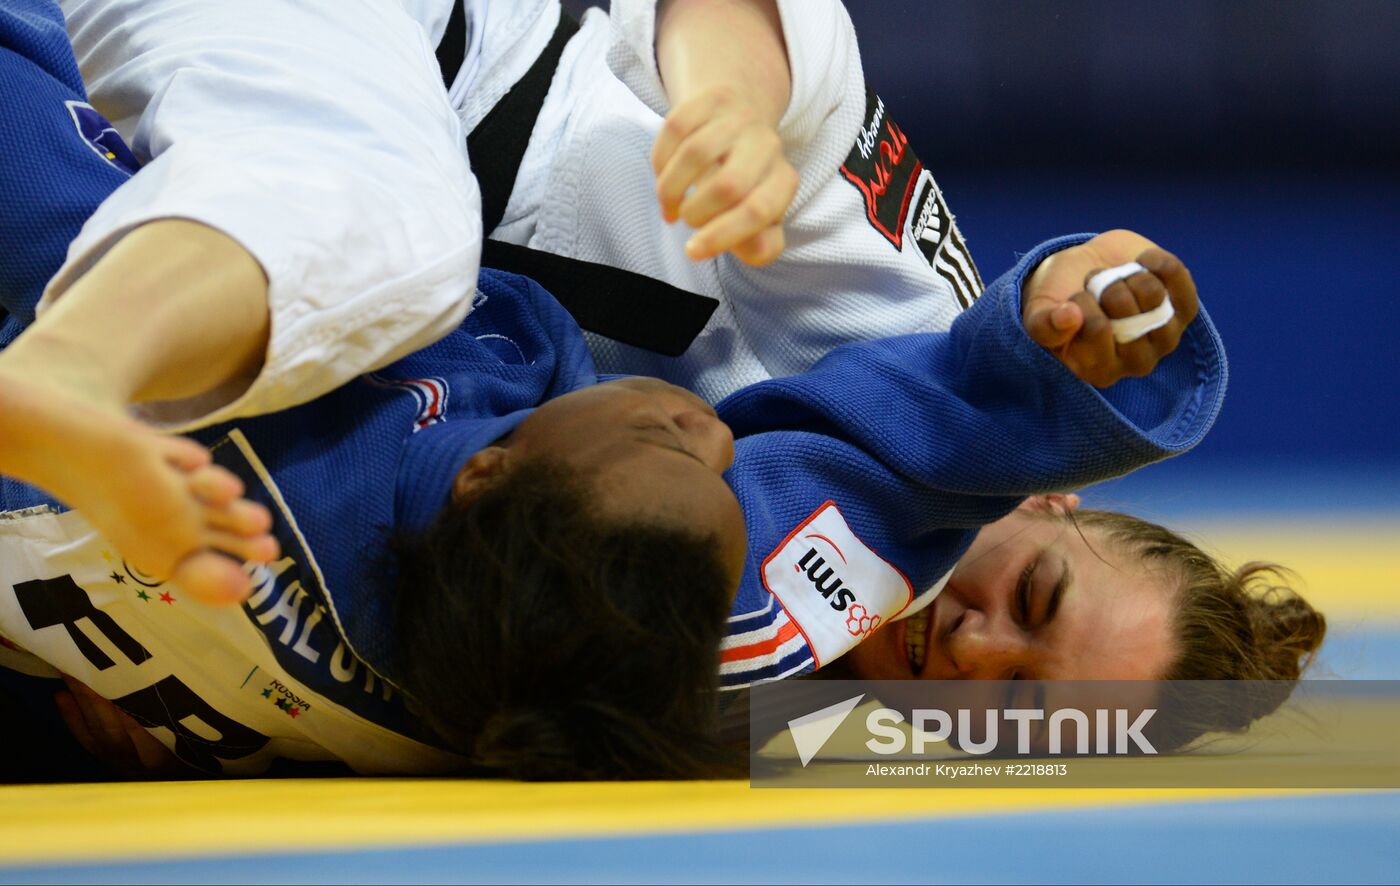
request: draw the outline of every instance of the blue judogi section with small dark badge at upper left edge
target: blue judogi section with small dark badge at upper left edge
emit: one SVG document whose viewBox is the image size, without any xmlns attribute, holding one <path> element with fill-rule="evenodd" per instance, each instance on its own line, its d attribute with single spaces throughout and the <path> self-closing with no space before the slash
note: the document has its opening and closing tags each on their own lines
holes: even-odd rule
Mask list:
<svg viewBox="0 0 1400 886">
<path fill-rule="evenodd" d="M 52 0 L 0 6 L 0 305 L 27 325 L 83 223 L 137 164 L 87 104 Z"/>
</svg>

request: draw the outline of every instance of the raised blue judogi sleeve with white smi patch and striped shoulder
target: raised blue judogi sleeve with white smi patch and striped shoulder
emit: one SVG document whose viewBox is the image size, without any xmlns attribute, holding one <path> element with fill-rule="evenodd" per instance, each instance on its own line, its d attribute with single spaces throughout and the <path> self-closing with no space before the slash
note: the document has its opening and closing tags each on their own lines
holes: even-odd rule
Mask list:
<svg viewBox="0 0 1400 886">
<path fill-rule="evenodd" d="M 1196 445 L 1225 395 L 1203 311 L 1147 378 L 1081 382 L 1021 321 L 1025 255 L 948 333 L 850 344 L 720 403 L 749 532 L 729 686 L 819 668 L 925 603 L 977 529 L 1026 495 L 1124 474 Z"/>
</svg>

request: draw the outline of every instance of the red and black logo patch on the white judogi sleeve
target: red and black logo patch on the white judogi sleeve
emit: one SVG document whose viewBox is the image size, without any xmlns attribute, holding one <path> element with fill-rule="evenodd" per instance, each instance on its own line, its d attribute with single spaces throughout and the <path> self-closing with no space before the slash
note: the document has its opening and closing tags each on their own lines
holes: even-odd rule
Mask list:
<svg viewBox="0 0 1400 886">
<path fill-rule="evenodd" d="M 865 125 L 841 164 L 841 174 L 865 199 L 871 225 L 896 249 L 904 244 L 904 217 L 923 165 L 904 132 L 885 113 L 885 101 L 865 90 Z"/>
</svg>

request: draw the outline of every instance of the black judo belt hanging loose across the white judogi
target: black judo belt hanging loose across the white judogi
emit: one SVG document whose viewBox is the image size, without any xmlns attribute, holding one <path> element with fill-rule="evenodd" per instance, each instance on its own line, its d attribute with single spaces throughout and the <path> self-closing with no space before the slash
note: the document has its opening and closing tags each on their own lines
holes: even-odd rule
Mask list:
<svg viewBox="0 0 1400 886">
<path fill-rule="evenodd" d="M 561 10 L 549 46 L 466 137 L 472 172 L 482 186 L 482 230 L 487 235 L 505 216 L 554 69 L 564 45 L 577 32 L 578 22 Z M 437 50 L 448 87 L 465 56 L 466 14 L 463 0 L 456 0 Z M 532 277 L 588 332 L 668 357 L 683 354 L 720 307 L 714 298 L 645 274 L 494 239 L 484 242 L 482 265 Z"/>
</svg>

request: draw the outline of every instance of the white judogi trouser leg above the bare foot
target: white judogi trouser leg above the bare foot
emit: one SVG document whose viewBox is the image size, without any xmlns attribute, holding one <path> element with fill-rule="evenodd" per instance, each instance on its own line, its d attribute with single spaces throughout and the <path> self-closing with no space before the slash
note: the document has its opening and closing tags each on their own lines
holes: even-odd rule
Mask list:
<svg viewBox="0 0 1400 886">
<path fill-rule="evenodd" d="M 269 279 L 258 379 L 144 417 L 190 428 L 284 409 L 461 323 L 480 193 L 433 48 L 403 6 L 67 0 L 63 11 L 92 104 L 147 165 L 83 228 L 39 309 L 155 218 L 228 234 Z"/>
</svg>

